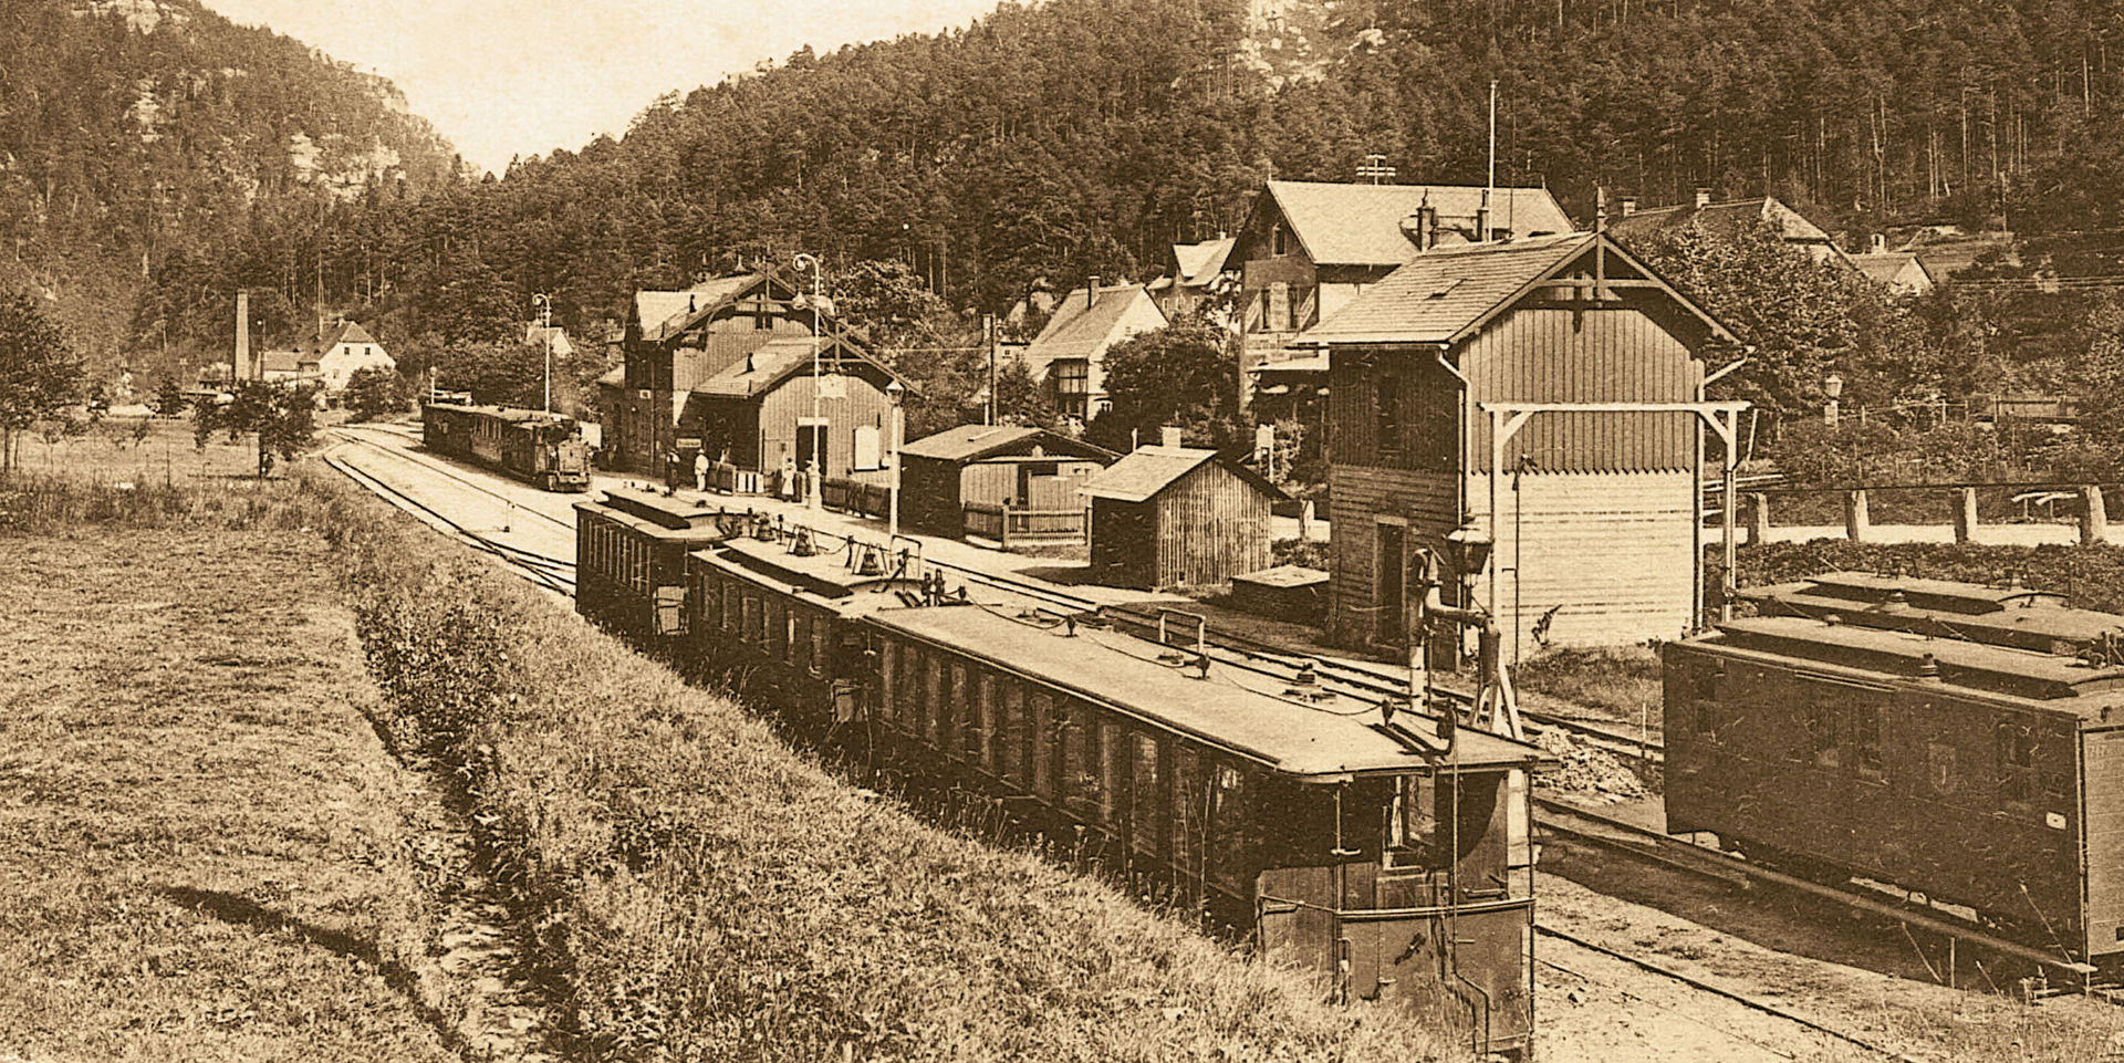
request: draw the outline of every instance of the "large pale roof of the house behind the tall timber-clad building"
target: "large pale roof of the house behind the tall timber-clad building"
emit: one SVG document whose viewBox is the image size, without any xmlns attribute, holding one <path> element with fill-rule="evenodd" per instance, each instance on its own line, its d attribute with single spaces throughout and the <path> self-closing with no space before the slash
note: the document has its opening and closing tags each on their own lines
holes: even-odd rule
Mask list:
<svg viewBox="0 0 2124 1063">
<path fill-rule="evenodd" d="M 1491 189 L 1489 221 L 1514 238 L 1576 231 L 1548 189 Z M 1315 265 L 1400 265 L 1417 255 L 1406 221 L 1425 202 L 1438 227 L 1474 229 L 1480 185 L 1340 185 L 1270 180 L 1253 210 L 1274 204 Z M 1253 233 L 1253 225 L 1247 227 Z M 1240 242 L 1251 236 L 1240 236 Z"/>
</svg>

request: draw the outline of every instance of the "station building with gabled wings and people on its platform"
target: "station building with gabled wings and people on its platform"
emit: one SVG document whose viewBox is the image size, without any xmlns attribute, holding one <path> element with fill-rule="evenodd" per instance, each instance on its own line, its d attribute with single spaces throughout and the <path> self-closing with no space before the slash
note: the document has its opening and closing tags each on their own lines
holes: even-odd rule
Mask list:
<svg viewBox="0 0 2124 1063">
<path fill-rule="evenodd" d="M 665 475 L 707 454 L 743 490 L 775 490 L 813 460 L 826 477 L 888 475 L 886 388 L 898 378 L 780 274 L 637 291 L 620 350 L 622 367 L 599 380 L 614 469 Z"/>
</svg>

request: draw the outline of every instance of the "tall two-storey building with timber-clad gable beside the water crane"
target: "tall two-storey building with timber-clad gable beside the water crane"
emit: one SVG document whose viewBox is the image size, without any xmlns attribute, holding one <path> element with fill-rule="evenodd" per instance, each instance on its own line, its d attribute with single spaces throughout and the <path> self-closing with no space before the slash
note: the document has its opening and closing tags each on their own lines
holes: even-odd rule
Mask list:
<svg viewBox="0 0 2124 1063">
<path fill-rule="evenodd" d="M 1701 403 L 1706 363 L 1740 352 L 1606 233 L 1425 250 L 1300 342 L 1328 354 L 1332 641 L 1406 647 L 1423 558 L 1455 543 L 1489 552 L 1442 594 L 1489 609 L 1510 658 L 1693 626 L 1701 420 L 1629 407 Z"/>
</svg>

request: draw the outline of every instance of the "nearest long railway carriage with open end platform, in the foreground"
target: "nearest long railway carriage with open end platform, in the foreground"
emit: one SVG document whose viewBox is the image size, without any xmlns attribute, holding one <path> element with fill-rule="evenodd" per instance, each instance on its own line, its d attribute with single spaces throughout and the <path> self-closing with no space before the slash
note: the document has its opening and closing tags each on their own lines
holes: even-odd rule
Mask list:
<svg viewBox="0 0 2124 1063">
<path fill-rule="evenodd" d="M 979 605 L 862 617 L 873 726 L 898 762 L 1028 808 L 1349 997 L 1459 1010 L 1493 1052 L 1534 1023 L 1527 768 L 1461 730 L 1438 747 L 1351 700 L 1111 630 Z"/>
</svg>

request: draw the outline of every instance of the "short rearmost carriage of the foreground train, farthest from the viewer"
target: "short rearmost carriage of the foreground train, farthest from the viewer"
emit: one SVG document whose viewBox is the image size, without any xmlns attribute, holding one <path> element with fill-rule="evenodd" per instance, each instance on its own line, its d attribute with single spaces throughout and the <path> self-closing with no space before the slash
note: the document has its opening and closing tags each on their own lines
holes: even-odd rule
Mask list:
<svg viewBox="0 0 2124 1063">
<path fill-rule="evenodd" d="M 658 643 L 684 637 L 686 552 L 722 537 L 716 509 L 648 490 L 576 503 L 576 611 Z"/>
</svg>

